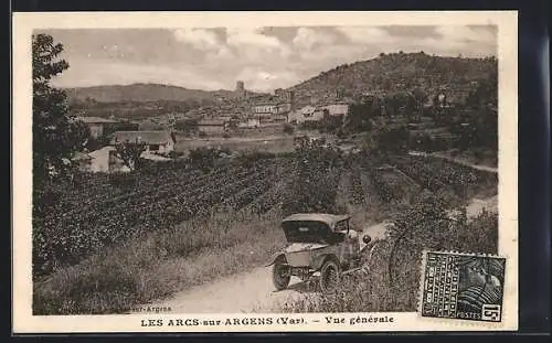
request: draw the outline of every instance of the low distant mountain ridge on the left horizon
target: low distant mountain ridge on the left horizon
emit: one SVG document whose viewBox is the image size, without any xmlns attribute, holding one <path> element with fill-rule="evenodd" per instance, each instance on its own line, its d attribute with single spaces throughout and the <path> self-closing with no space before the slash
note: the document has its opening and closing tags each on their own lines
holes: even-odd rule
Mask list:
<svg viewBox="0 0 552 343">
<path fill-rule="evenodd" d="M 200 90 L 159 84 L 107 85 L 93 87 L 65 88 L 71 100 L 98 103 L 149 103 L 149 101 L 215 101 L 220 97 L 233 98 L 232 90 Z"/>
</svg>

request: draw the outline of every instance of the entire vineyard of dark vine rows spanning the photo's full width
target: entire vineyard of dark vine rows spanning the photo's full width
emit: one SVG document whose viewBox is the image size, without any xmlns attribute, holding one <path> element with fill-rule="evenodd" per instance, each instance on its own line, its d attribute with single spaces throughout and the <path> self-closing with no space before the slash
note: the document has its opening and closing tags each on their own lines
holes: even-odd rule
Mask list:
<svg viewBox="0 0 552 343">
<path fill-rule="evenodd" d="M 371 165 L 367 159 L 348 161 L 336 150 L 307 143 L 297 156 L 244 159 L 206 172 L 177 165 L 115 180 L 89 175 L 72 185 L 42 190 L 33 207 L 35 275 L 76 264 L 104 246 L 213 212 L 245 210 L 262 215 L 275 206 L 284 215 L 346 211 L 336 203 L 346 169 L 351 172 L 350 199 L 344 202 L 365 205 L 368 211 L 376 205 L 367 204 L 370 192 L 384 204 L 410 203 L 421 190 L 458 201 L 497 182 L 485 172 L 429 158 L 393 157 L 393 165 Z M 198 248 L 201 245 L 192 245 L 189 253 Z"/>
</svg>

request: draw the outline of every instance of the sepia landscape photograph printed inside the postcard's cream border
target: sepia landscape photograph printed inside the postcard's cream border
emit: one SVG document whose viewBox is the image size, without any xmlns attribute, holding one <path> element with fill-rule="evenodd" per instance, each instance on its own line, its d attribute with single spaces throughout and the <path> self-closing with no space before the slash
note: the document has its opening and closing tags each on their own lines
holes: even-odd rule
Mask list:
<svg viewBox="0 0 552 343">
<path fill-rule="evenodd" d="M 502 319 L 498 24 L 29 39 L 33 317 Z"/>
</svg>

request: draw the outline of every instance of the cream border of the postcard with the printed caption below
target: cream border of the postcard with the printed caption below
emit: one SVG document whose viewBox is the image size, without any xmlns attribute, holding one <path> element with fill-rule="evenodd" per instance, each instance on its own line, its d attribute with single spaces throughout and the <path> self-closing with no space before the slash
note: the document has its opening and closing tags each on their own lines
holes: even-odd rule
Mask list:
<svg viewBox="0 0 552 343">
<path fill-rule="evenodd" d="M 503 318 L 500 328 L 518 329 L 518 23 L 516 11 L 443 12 L 63 12 L 13 14 L 13 332 L 206 332 L 206 331 L 466 331 L 485 325 L 421 321 L 415 312 L 331 313 L 393 317 L 393 323 L 326 325 L 325 313 L 286 314 L 302 318 L 299 325 L 145 328 L 142 319 L 266 318 L 277 314 L 119 314 L 33 317 L 31 311 L 31 190 L 32 73 L 31 34 L 34 29 L 183 28 L 183 26 L 307 26 L 307 25 L 498 25 L 499 60 L 499 255 L 507 258 Z M 321 320 L 312 323 L 314 319 Z"/>
</svg>

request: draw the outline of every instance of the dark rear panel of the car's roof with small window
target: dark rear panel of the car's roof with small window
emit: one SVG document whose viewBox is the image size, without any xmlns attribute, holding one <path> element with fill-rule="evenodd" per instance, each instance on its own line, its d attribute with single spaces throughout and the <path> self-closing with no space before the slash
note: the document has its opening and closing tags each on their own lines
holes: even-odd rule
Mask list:
<svg viewBox="0 0 552 343">
<path fill-rule="evenodd" d="M 315 221 L 285 222 L 282 224 L 289 243 L 321 243 L 331 240 L 331 231 L 326 223 Z"/>
</svg>

